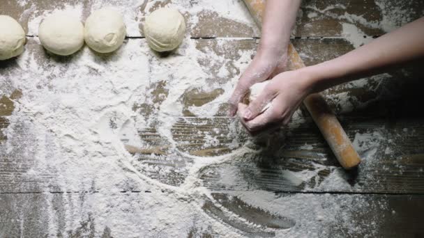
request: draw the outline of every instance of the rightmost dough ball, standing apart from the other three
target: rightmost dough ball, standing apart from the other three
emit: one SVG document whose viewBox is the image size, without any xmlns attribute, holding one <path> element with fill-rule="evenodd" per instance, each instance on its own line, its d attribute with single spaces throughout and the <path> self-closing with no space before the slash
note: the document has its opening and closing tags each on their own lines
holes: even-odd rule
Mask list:
<svg viewBox="0 0 424 238">
<path fill-rule="evenodd" d="M 160 8 L 146 17 L 144 35 L 147 43 L 156 51 L 171 51 L 183 41 L 184 17 L 173 8 Z"/>
</svg>

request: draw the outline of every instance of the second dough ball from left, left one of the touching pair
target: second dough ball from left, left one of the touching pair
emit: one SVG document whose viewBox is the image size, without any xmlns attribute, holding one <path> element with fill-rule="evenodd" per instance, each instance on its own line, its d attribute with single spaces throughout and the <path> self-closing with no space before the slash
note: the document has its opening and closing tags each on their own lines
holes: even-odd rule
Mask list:
<svg viewBox="0 0 424 238">
<path fill-rule="evenodd" d="M 56 13 L 41 22 L 38 38 L 48 51 L 68 56 L 84 45 L 84 26 L 72 15 Z"/>
</svg>

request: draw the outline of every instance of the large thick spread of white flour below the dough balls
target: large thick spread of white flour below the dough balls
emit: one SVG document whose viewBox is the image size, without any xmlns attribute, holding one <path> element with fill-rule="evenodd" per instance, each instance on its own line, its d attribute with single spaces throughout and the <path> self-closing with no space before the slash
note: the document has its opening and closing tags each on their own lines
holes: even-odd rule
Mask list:
<svg viewBox="0 0 424 238">
<path fill-rule="evenodd" d="M 36 38 L 31 41 L 29 44 L 33 46 L 38 44 Z M 167 58 L 153 54 L 144 39 L 126 40 L 110 56 L 98 56 L 84 47 L 65 59 L 48 56 L 40 47 L 28 47 L 17 58 L 14 72 L 0 76 L 1 82 L 10 81 L 23 95 L 15 102 L 15 113 L 8 118 L 10 126 L 4 131 L 9 138 L 4 145 L 8 151 L 2 153 L 18 152 L 22 157 L 32 154 L 34 166 L 26 176 L 29 179 L 46 174 L 54 176 L 40 184 L 44 191 L 54 186 L 59 191 L 98 192 L 86 196 L 84 205 L 78 205 L 77 195 L 68 198 L 63 193 L 60 200 L 64 207 L 76 206 L 67 209 L 63 217 L 54 212 L 54 200 L 58 198 L 47 193 L 52 199 L 46 207 L 51 235 L 59 231 L 61 219 L 67 225 L 65 230 L 73 230 L 79 223 L 72 221 L 88 219 L 80 214 L 89 212 L 96 217 L 96 236 L 107 227 L 117 237 L 142 234 L 176 237 L 181 232 L 187 234 L 193 226 L 209 228 L 227 237 L 240 236 L 202 212 L 202 200 L 210 192 L 199 187 L 197 173 L 204 166 L 230 159 L 246 148 L 225 157 L 182 154 L 196 163 L 181 187 L 173 187 L 140 173 L 132 164 L 137 163 L 136 157 L 126 151 L 121 141 L 120 135 L 125 134 L 132 145 L 143 148 L 143 142 L 135 138 L 137 130 L 159 123 L 158 133 L 175 148 L 171 129 L 175 118 L 182 116 L 179 98 L 188 88 L 209 87 L 205 81 L 208 77 L 197 63 L 197 57 L 202 54 L 206 53 L 198 51 L 196 40 L 190 39 L 185 39 L 175 55 Z M 133 105 L 149 102 L 151 96 L 146 93 L 149 86 L 162 79 L 169 79 L 166 86 L 169 93 L 158 107 L 157 116 L 142 116 L 133 111 Z M 231 92 L 227 84 L 231 83 L 225 82 L 220 87 L 227 88 L 228 96 Z M 0 93 L 10 94 L 3 90 Z M 205 108 L 198 113 L 208 115 L 207 111 Z M 156 118 L 159 121 L 153 121 Z M 13 136 L 22 134 L 22 125 L 26 128 L 26 138 Z M 31 146 L 18 150 L 16 145 L 24 143 Z M 216 143 L 213 136 L 209 136 L 209 143 Z M 160 171 L 157 167 L 152 169 Z M 122 190 L 151 193 L 140 198 L 138 193 L 122 196 Z"/>
</svg>

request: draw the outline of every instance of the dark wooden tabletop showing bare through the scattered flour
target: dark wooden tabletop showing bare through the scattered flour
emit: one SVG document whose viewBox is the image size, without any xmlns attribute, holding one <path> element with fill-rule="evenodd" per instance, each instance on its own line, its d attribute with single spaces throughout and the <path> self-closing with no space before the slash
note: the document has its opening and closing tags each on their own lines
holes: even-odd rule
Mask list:
<svg viewBox="0 0 424 238">
<path fill-rule="evenodd" d="M 0 14 L 20 18 L 27 31 L 28 14 L 24 15 L 24 11 L 31 4 L 43 13 L 45 10 L 60 8 L 71 1 L 52 2 L 52 0 L 38 0 L 18 4 L 13 0 L 2 1 Z M 85 19 L 96 0 L 82 2 Z M 178 4 L 178 1 L 172 2 Z M 244 8 L 243 1 L 225 1 L 225 3 Z M 364 24 L 361 19 L 352 22 L 351 18 L 342 16 L 356 15 L 368 22 L 378 23 L 384 19 L 383 15 L 390 15 L 390 11 L 397 14 L 397 10 L 405 10 L 411 16 L 411 20 L 421 17 L 424 12 L 422 1 L 399 3 L 390 0 L 385 4 L 388 6 L 386 9 L 388 12 L 381 13 L 374 0 L 350 1 L 342 6 L 335 5 L 335 1 L 332 0 L 303 1 L 292 42 L 305 64 L 312 65 L 354 49 L 346 35 L 342 34 L 344 23 L 356 26 L 365 34 L 364 38 L 374 38 L 384 33 L 378 27 Z M 139 11 L 144 13 L 145 6 L 146 4 L 141 4 Z M 336 7 L 326 8 L 326 6 Z M 213 58 L 212 61 L 199 61 L 202 69 L 219 84 L 224 84 L 227 78 L 241 73 L 232 61 L 240 57 L 240 52 L 255 49 L 259 37 L 259 30 L 252 19 L 249 19 L 247 10 L 243 21 L 222 17 L 225 14 L 228 13 L 205 10 L 195 16 L 198 17 L 196 24 L 188 24 L 191 40 L 195 41 L 199 51 L 212 51 L 213 54 L 222 56 L 220 61 L 215 61 Z M 185 17 L 188 22 L 192 22 L 194 16 L 185 14 Z M 36 54 L 43 51 L 33 33 L 29 32 L 27 39 L 27 51 Z M 125 44 L 128 40 L 137 40 L 145 45 L 144 37 L 140 33 L 130 33 Z M 220 76 L 219 69 L 222 64 L 232 69 L 229 70 L 231 75 Z M 7 74 L 10 79 L 20 77 L 15 70 L 16 65 L 14 59 L 0 62 L 0 74 Z M 298 121 L 291 122 L 288 127 L 282 128 L 280 133 L 275 135 L 280 136 L 278 138 L 285 138 L 284 145 L 274 138 L 273 142 L 268 144 L 268 149 L 262 153 L 248 153 L 244 155 L 245 158 L 234 158 L 203 168 L 199 173 L 200 186 L 208 188 L 212 198 L 205 198 L 202 211 L 239 235 L 273 237 L 280 233 L 272 229 L 296 227 L 301 223 L 283 221 L 282 217 L 266 212 L 269 208 L 249 206 L 243 198 L 234 194 L 239 191 L 267 191 L 277 200 L 305 193 L 308 199 L 317 201 L 345 196 L 367 200 L 368 203 L 365 205 L 352 203 L 348 205 L 349 209 L 341 209 L 341 215 L 349 215 L 351 220 L 325 223 L 321 228 L 325 232 L 315 234 L 316 236 L 424 237 L 424 113 L 421 103 L 424 80 L 421 68 L 422 62 L 411 63 L 402 70 L 395 70 L 380 77 L 371 77 L 367 79 L 370 82 L 368 84 L 362 86 L 344 84 L 325 92 L 329 104 L 335 109 L 342 126 L 363 157 L 363 163 L 358 170 L 347 173 L 340 168 L 331 150 L 321 138 L 319 130 L 308 113 L 303 110 L 299 114 Z M 20 125 L 13 125 L 8 120 L 12 113 L 20 113 L 15 111 L 14 101 L 22 97 L 22 92 L 20 88 L 8 88 L 10 85 L 6 81 L 0 81 L 0 86 L 7 88 L 5 92 L 10 92 L 0 94 L 0 237 L 45 237 L 47 221 L 49 224 L 56 223 L 57 226 L 57 234 L 50 236 L 94 237 L 95 234 L 103 233 L 103 237 L 114 237 L 116 228 L 105 226 L 104 230 L 95 230 L 93 224 L 101 224 L 103 220 L 93 215 L 90 208 L 83 210 L 80 219 L 74 221 L 79 223 L 78 228 L 66 230 L 62 223 L 71 209 L 69 204 L 77 206 L 84 203 L 84 200 L 96 199 L 97 196 L 102 196 L 106 200 L 119 196 L 139 196 L 142 202 L 144 196 L 161 193 L 152 190 L 154 187 L 140 187 L 137 181 L 130 177 L 123 182 L 122 187 L 116 188 L 121 193 L 109 193 L 96 185 L 95 175 L 92 184 L 82 184 L 79 189 L 67 190 L 58 187 L 54 181 L 63 168 L 52 168 L 50 173 L 38 177 L 29 176 L 28 171 L 33 169 L 35 164 L 31 154 L 20 153 L 19 145 L 7 145 L 8 138 L 2 133 L 6 128 L 13 127 L 16 133 L 14 136 L 18 138 L 26 136 L 25 128 L 19 128 Z M 164 100 L 164 95 L 165 97 L 168 95 L 167 79 L 159 84 L 152 84 L 151 89 L 153 102 L 160 104 Z M 213 117 L 198 117 L 190 111 L 190 106 L 207 104 L 222 93 L 221 88 L 208 92 L 195 88 L 185 92 L 181 97 L 184 108 L 171 130 L 176 148 L 182 152 L 179 158 L 168 150 L 169 141 L 161 138 L 157 125 L 153 123 L 148 128 L 140 130 L 140 138 L 150 147 L 149 150 L 132 148 L 135 156 L 132 164 L 139 169 L 139 173 L 162 184 L 179 187 L 187 177 L 190 166 L 195 162 L 192 157 L 184 157 L 184 153 L 201 159 L 228 154 L 245 146 L 244 142 L 248 140 L 246 136 L 237 138 L 236 145 L 233 143 L 234 138 L 230 132 L 232 118 L 226 116 L 225 102 L 222 102 L 218 113 Z M 341 103 L 345 101 L 349 103 Z M 154 106 L 135 104 L 133 110 L 155 118 L 158 115 L 155 114 Z M 219 136 L 215 128 L 219 129 L 220 134 L 230 136 Z M 193 136 L 194 134 L 197 136 Z M 377 141 L 363 141 L 361 136 L 364 134 L 380 136 L 376 136 Z M 218 142 L 206 144 L 206 136 L 211 135 L 215 136 Z M 255 146 L 262 145 L 259 143 Z M 162 157 L 158 160 L 152 154 L 161 154 Z M 157 173 L 147 170 L 146 165 L 158 166 L 168 172 Z M 314 175 L 308 180 L 296 180 L 298 182 L 287 178 L 292 173 L 301 172 Z M 331 180 L 327 179 L 328 176 L 331 176 L 331 180 L 343 180 L 350 186 L 331 183 Z M 87 187 L 90 189 L 86 189 Z M 65 203 L 64 200 L 67 199 L 71 202 Z M 305 203 L 310 200 L 305 199 Z M 217 203 L 220 206 L 217 206 Z M 52 207 L 54 207 L 53 214 L 51 214 Z M 246 221 L 257 224 L 257 227 L 252 228 L 246 223 L 229 219 L 222 207 L 225 207 L 227 212 L 238 214 Z M 47 208 L 50 209 L 50 214 Z M 330 210 L 329 207 L 322 209 Z M 352 226 L 347 226 L 347 223 L 361 229 L 349 230 Z M 372 223 L 378 224 L 369 225 Z M 308 227 L 296 229 L 304 231 L 308 230 Z M 292 229 L 294 233 L 292 231 L 290 234 L 296 236 L 296 229 Z M 302 234 L 304 233 L 299 232 L 298 236 Z M 199 231 L 196 225 L 181 235 L 181 237 L 219 236 L 220 234 L 214 232 L 212 228 Z"/>
</svg>

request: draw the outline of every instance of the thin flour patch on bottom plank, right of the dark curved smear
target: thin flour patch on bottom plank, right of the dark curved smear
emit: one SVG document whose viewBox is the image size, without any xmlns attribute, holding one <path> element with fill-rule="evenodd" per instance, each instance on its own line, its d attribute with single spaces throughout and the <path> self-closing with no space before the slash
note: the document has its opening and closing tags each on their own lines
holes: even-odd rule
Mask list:
<svg viewBox="0 0 424 238">
<path fill-rule="evenodd" d="M 317 198 L 312 194 L 277 195 L 264 191 L 235 191 L 230 194 L 241 198 L 254 207 L 267 207 L 269 212 L 287 216 L 302 224 L 302 226 L 295 226 L 288 230 L 279 230 L 275 237 L 337 237 L 337 232 L 334 231 L 339 229 L 346 229 L 343 237 L 358 235 L 375 237 L 373 232 L 378 230 L 378 223 L 363 223 L 361 210 L 367 210 L 369 216 L 378 220 L 379 215 L 373 211 L 387 206 L 386 202 L 379 203 L 369 198 L 364 200 L 364 196 L 361 195 L 332 196 L 324 193 Z M 356 212 L 345 212 L 345 209 L 349 209 L 353 203 L 359 203 L 361 208 Z M 330 231 L 328 230 L 330 225 L 335 225 L 336 228 L 333 227 L 333 230 Z M 369 228 L 367 232 L 362 229 L 365 226 Z M 305 227 L 308 229 L 305 229 Z M 340 235 L 340 237 L 342 236 Z"/>
</svg>

